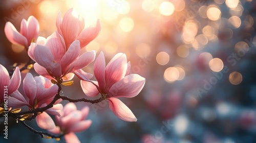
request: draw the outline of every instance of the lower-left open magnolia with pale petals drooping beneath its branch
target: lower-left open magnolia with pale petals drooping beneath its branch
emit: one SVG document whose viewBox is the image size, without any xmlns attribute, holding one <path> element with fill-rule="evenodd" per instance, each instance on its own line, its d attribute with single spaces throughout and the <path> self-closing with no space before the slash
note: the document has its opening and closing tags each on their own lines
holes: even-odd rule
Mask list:
<svg viewBox="0 0 256 143">
<path fill-rule="evenodd" d="M 53 101 L 58 91 L 58 86 L 53 85 L 50 80 L 44 77 L 33 77 L 30 73 L 26 75 L 23 81 L 24 96 L 19 91 L 13 92 L 8 98 L 8 106 L 20 108 L 28 106 L 30 110 L 47 106 Z M 36 123 L 42 129 L 53 129 L 55 124 L 52 118 L 47 114 L 61 115 L 62 105 L 55 102 L 52 108 L 36 116 Z"/>
</svg>

